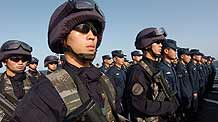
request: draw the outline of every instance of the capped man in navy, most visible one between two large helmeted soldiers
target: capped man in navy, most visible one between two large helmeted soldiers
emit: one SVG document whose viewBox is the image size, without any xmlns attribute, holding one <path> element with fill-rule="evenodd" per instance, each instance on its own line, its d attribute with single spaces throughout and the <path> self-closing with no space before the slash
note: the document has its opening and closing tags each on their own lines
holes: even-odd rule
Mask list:
<svg viewBox="0 0 218 122">
<path fill-rule="evenodd" d="M 122 97 L 126 82 L 126 73 L 122 69 L 124 65 L 124 55 L 122 50 L 114 50 L 111 52 L 114 65 L 106 72 L 107 76 L 114 81 L 114 87 L 117 93 L 116 96 L 116 108 L 118 113 L 122 114 L 123 105 Z"/>
</svg>

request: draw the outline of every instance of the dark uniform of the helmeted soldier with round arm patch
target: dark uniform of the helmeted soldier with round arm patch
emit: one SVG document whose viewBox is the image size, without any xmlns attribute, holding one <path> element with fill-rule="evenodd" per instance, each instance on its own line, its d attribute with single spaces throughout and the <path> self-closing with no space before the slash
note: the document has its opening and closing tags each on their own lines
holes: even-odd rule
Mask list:
<svg viewBox="0 0 218 122">
<path fill-rule="evenodd" d="M 142 59 L 154 73 L 158 72 L 158 63 L 147 58 Z M 153 99 L 152 79 L 139 64 L 128 70 L 127 91 L 131 117 L 151 117 L 173 113 L 177 106 L 169 101 L 155 101 Z"/>
</svg>

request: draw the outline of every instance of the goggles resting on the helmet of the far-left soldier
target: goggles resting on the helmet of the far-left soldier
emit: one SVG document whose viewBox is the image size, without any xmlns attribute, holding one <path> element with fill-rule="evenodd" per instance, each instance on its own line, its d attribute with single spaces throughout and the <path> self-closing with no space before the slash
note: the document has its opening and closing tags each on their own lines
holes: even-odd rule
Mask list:
<svg viewBox="0 0 218 122">
<path fill-rule="evenodd" d="M 9 51 L 9 50 L 16 50 L 19 47 L 22 47 L 24 50 L 28 52 L 32 52 L 32 47 L 27 45 L 24 42 L 18 41 L 18 40 L 10 40 L 7 44 L 2 45 L 1 49 L 2 51 Z"/>
</svg>

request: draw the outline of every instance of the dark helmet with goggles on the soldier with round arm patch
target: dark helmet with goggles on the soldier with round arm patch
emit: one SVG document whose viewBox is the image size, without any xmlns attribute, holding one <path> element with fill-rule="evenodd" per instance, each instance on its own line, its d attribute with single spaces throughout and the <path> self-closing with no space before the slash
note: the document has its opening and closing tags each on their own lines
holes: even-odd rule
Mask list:
<svg viewBox="0 0 218 122">
<path fill-rule="evenodd" d="M 135 47 L 136 49 L 142 50 L 145 47 L 150 46 L 156 41 L 165 40 L 167 36 L 164 28 L 146 28 L 138 33 L 136 36 Z"/>
</svg>

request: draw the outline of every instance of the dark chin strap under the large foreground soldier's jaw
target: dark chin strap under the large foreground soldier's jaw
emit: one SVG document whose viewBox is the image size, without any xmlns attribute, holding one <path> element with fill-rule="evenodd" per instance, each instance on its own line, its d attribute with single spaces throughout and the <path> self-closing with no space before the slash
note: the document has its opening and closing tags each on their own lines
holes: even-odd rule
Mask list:
<svg viewBox="0 0 218 122">
<path fill-rule="evenodd" d="M 76 53 L 70 46 L 64 47 L 64 51 L 71 52 L 81 62 L 92 62 L 95 59 L 96 52 L 94 54 Z"/>
</svg>

